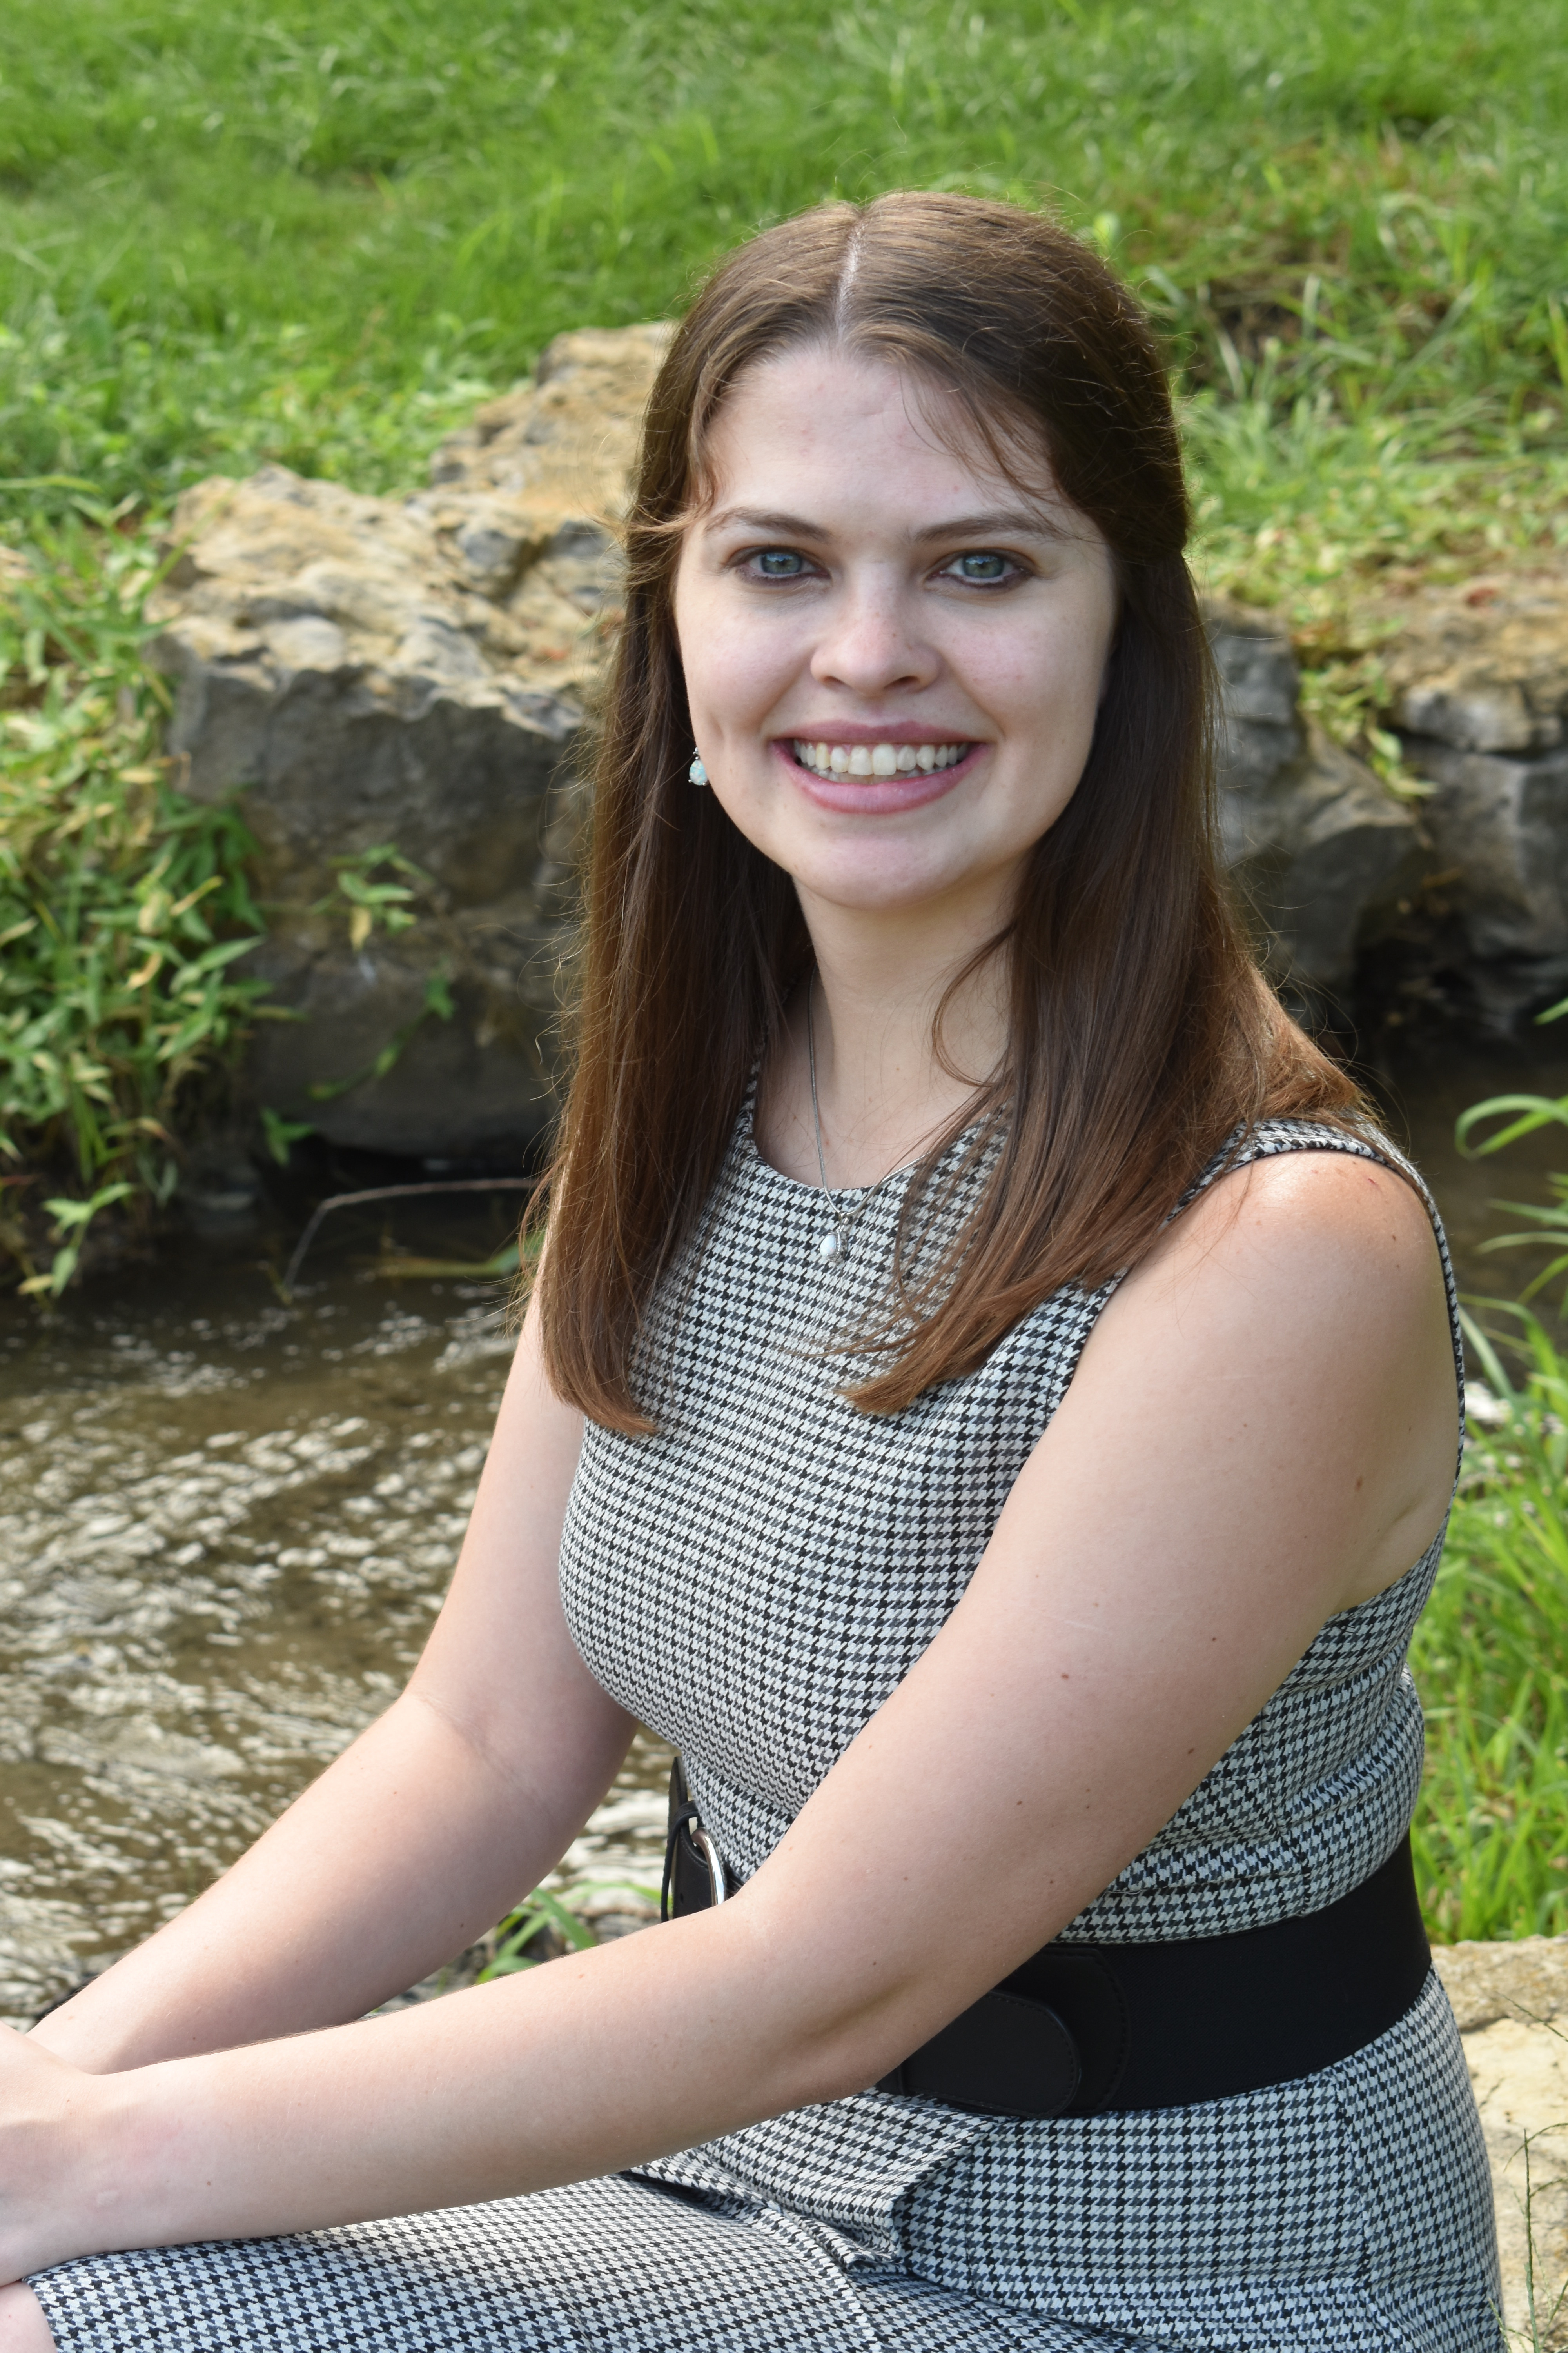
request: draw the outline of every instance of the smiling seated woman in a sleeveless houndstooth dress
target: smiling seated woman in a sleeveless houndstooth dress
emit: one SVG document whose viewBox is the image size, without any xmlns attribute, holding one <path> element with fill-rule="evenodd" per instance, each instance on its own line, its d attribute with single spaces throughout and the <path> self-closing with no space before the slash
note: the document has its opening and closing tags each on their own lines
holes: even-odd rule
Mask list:
<svg viewBox="0 0 1568 2353">
<path fill-rule="evenodd" d="M 1218 887 L 1185 529 L 1034 216 L 827 207 L 698 299 L 451 1595 L 5 2049 L 0 2346 L 1497 2346 L 1403 1847 L 1453 1292 Z M 637 1718 L 679 1915 L 362 2021 Z"/>
</svg>

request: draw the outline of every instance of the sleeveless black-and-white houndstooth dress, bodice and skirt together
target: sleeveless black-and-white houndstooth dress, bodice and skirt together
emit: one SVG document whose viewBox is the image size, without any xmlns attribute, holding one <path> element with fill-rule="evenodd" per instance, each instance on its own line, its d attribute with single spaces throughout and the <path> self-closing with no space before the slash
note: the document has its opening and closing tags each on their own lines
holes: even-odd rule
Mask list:
<svg viewBox="0 0 1568 2353">
<path fill-rule="evenodd" d="M 1241 1158 L 1380 1141 L 1276 1122 Z M 980 1162 L 964 1144 L 924 1235 Z M 750 1104 L 656 1301 L 658 1435 L 590 1428 L 562 1541 L 599 1682 L 684 1755 L 741 1875 L 954 1607 L 1114 1285 L 867 1419 L 827 1346 L 879 1292 L 900 1186 L 769 1167 Z M 1436 1219 L 1434 1219 L 1436 1224 Z M 1439 1228 L 1441 1247 L 1441 1228 Z M 1453 1275 L 1443 1249 L 1453 1311 Z M 1455 1320 L 1458 1355 L 1458 1320 Z M 1403 1657 L 1439 1541 L 1331 1619 L 1166 1828 L 1065 1929 L 1208 1937 L 1335 1901 L 1394 1849 L 1422 1722 Z M 1190 2108 L 1011 2120 L 860 2092 L 534 2198 L 63 2264 L 63 2353 L 1497 2353 L 1486 2153 L 1436 1977 L 1373 2045 Z"/>
</svg>

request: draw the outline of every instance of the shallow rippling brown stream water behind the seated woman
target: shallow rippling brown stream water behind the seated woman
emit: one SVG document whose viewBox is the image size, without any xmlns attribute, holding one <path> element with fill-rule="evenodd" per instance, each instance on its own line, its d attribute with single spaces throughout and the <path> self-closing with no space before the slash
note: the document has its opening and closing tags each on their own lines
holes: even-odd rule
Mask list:
<svg viewBox="0 0 1568 2353">
<path fill-rule="evenodd" d="M 1448 1056 L 1396 1089 L 1469 1289 L 1521 1278 L 1479 1252 L 1509 1224 L 1490 1200 L 1568 1165 L 1561 1132 L 1453 1153 L 1465 1104 L 1523 1085 L 1568 1071 Z M 421 1214 L 407 1247 L 494 1249 L 480 1212 Z M 418 1657 L 510 1337 L 496 1285 L 378 1280 L 376 1231 L 334 1219 L 294 1306 L 263 1264 L 289 1233 L 103 1280 L 49 1325 L 0 1304 L 0 2014 L 179 1911 Z M 562 1885 L 604 1882 L 590 1911 L 656 1880 L 663 1769 L 639 1741 L 567 1857 Z"/>
</svg>

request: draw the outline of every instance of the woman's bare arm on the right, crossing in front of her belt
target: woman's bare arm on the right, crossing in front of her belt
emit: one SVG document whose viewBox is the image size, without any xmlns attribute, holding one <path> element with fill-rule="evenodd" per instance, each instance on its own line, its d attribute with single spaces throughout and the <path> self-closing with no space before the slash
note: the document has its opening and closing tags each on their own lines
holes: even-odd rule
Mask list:
<svg viewBox="0 0 1568 2353">
<path fill-rule="evenodd" d="M 1401 1179 L 1234 1172 L 1100 1318 L 971 1586 L 731 1904 L 386 2019 L 89 2078 L 0 2047 L 0 2278 L 599 2174 L 875 2082 L 1178 1809 L 1436 1534 Z"/>
</svg>

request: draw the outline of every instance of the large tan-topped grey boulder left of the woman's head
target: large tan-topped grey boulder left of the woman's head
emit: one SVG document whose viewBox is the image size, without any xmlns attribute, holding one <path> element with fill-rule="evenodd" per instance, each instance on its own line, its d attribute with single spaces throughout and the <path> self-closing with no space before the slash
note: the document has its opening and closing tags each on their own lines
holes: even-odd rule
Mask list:
<svg viewBox="0 0 1568 2353">
<path fill-rule="evenodd" d="M 578 739 L 668 332 L 559 336 L 402 504 L 270 466 L 176 508 L 169 751 L 197 800 L 242 793 L 247 967 L 301 1016 L 256 1026 L 249 1089 L 339 1144 L 512 1158 L 550 1113 Z M 414 922 L 364 929 L 336 880 L 386 845 Z"/>
</svg>

